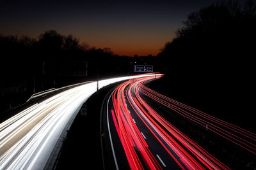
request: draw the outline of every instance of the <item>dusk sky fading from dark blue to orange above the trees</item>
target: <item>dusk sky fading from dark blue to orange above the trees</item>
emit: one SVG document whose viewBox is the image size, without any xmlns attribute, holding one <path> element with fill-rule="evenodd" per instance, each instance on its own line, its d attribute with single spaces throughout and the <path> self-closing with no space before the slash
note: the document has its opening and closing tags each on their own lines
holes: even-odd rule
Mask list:
<svg viewBox="0 0 256 170">
<path fill-rule="evenodd" d="M 189 13 L 214 1 L 1 0 L 0 33 L 37 38 L 53 29 L 117 55 L 157 55 Z"/>
</svg>

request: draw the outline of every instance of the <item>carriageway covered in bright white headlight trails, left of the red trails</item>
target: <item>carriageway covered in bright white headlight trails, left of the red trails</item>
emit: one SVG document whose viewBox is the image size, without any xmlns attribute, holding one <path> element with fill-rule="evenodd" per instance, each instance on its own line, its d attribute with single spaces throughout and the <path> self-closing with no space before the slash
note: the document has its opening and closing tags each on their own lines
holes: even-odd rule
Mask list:
<svg viewBox="0 0 256 170">
<path fill-rule="evenodd" d="M 111 83 L 148 76 L 92 81 L 37 103 L 0 124 L 0 169 L 44 169 L 53 166 L 56 148 L 83 103 Z M 150 76 L 155 76 L 154 74 Z M 58 151 L 58 150 L 57 150 Z M 58 153 L 57 153 L 58 155 Z M 50 166 L 49 166 L 50 164 Z"/>
</svg>

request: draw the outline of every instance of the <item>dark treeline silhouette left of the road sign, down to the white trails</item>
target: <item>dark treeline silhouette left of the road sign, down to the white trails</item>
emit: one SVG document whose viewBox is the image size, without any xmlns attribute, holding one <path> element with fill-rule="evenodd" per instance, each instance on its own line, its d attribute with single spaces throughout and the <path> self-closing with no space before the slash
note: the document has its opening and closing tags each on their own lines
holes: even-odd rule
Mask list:
<svg viewBox="0 0 256 170">
<path fill-rule="evenodd" d="M 132 70 L 131 57 L 54 30 L 37 38 L 0 34 L 0 55 L 0 111 L 24 103 L 35 92 Z"/>
</svg>

